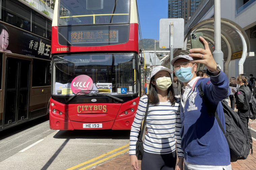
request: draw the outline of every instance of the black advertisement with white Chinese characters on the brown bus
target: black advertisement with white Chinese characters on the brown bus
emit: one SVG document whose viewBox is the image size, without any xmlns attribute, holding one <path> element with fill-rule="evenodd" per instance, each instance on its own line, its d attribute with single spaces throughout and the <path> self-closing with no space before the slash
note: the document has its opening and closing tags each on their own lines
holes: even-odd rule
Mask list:
<svg viewBox="0 0 256 170">
<path fill-rule="evenodd" d="M 8 32 L 9 37 L 8 45 L 4 51 L 47 60 L 51 58 L 50 40 L 6 24 L 0 23 L 0 27 Z M 4 39 L 2 43 L 1 41 L 0 44 L 4 43 Z"/>
</svg>

